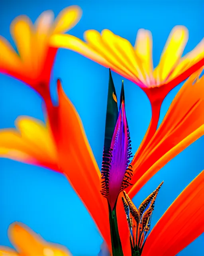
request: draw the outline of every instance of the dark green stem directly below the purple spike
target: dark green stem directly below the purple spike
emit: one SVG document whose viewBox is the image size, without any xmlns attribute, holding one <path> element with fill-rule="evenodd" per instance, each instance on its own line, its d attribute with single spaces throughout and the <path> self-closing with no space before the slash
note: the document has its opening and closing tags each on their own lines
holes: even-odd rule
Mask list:
<svg viewBox="0 0 204 256">
<path fill-rule="evenodd" d="M 108 209 L 109 209 L 110 234 L 111 234 L 111 244 L 112 244 L 112 256 L 124 256 L 123 250 L 122 250 L 122 244 L 121 244 L 120 236 L 118 232 L 116 204 L 113 210 L 111 210 L 110 204 L 108 203 Z"/>
</svg>

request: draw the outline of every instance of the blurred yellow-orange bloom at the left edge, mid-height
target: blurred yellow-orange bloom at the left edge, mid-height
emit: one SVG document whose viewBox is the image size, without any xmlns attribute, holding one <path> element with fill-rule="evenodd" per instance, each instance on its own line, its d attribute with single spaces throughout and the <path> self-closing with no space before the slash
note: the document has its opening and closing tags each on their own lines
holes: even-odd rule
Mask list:
<svg viewBox="0 0 204 256">
<path fill-rule="evenodd" d="M 21 116 L 16 127 L 0 131 L 0 156 L 58 170 L 55 144 L 45 124 Z"/>
</svg>

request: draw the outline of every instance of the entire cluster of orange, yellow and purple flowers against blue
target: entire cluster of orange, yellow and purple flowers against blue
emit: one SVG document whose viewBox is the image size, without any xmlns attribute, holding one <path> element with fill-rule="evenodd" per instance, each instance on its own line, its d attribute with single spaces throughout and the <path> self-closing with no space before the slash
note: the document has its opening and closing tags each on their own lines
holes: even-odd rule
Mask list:
<svg viewBox="0 0 204 256">
<path fill-rule="evenodd" d="M 188 31 L 175 26 L 159 65 L 153 68 L 151 32 L 140 29 L 135 46 L 110 30 L 87 30 L 84 42 L 64 34 L 80 17 L 78 6 L 65 8 L 55 20 L 53 12 L 43 12 L 34 24 L 27 16 L 17 17 L 11 34 L 18 53 L 0 37 L 0 72 L 39 93 L 46 117 L 43 123 L 20 116 L 16 128 L 0 130 L 0 157 L 63 173 L 113 256 L 175 256 L 204 232 L 204 171 L 175 199 L 151 232 L 150 220 L 162 183 L 138 209 L 131 199 L 167 162 L 204 135 L 204 77 L 200 76 L 204 40 L 182 57 Z M 78 52 L 110 69 L 101 171 L 60 79 L 56 81 L 58 105 L 51 100 L 49 82 L 58 48 Z M 151 103 L 151 122 L 133 157 L 124 84 L 122 81 L 118 102 L 111 70 L 140 86 Z M 186 78 L 157 128 L 165 96 Z M 71 255 L 66 248 L 45 242 L 24 224 L 12 224 L 8 233 L 17 251 L 0 247 L 2 256 Z"/>
</svg>

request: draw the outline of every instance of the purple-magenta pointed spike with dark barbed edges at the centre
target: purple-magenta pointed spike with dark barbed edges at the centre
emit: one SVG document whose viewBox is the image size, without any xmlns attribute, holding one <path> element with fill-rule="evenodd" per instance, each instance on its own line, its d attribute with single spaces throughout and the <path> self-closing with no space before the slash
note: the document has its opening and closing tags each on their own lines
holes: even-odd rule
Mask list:
<svg viewBox="0 0 204 256">
<path fill-rule="evenodd" d="M 117 100 L 116 96 L 114 97 Z M 120 110 L 114 128 L 110 149 L 104 150 L 102 162 L 102 194 L 108 200 L 111 210 L 116 206 L 118 196 L 130 185 L 132 177 L 131 145 L 125 110 L 124 84 L 120 95 Z"/>
</svg>

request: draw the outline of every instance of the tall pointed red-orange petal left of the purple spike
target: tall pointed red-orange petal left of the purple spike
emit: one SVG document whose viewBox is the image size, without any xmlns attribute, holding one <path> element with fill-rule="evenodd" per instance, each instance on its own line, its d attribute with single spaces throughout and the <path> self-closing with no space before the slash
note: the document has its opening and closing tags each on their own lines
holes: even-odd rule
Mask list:
<svg viewBox="0 0 204 256">
<path fill-rule="evenodd" d="M 59 164 L 110 248 L 108 204 L 100 193 L 100 170 L 86 138 L 80 117 L 64 94 L 59 80 L 58 94 Z"/>
</svg>

